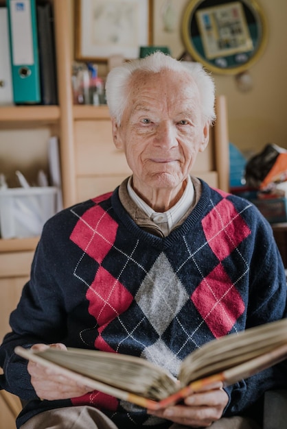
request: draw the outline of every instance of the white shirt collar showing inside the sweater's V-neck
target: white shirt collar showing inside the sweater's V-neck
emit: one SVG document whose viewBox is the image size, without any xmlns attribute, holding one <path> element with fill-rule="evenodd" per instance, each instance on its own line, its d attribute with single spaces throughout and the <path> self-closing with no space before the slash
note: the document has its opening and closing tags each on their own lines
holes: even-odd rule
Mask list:
<svg viewBox="0 0 287 429">
<path fill-rule="evenodd" d="M 159 225 L 164 236 L 170 234 L 174 225 L 181 220 L 194 201 L 194 186 L 189 175 L 187 176 L 187 184 L 183 195 L 181 195 L 179 201 L 166 212 L 154 212 L 154 210 L 135 193 L 131 186 L 131 182 L 132 177 L 128 180 L 128 195 L 130 195 L 130 198 L 133 199 L 135 204 L 137 204 L 154 223 Z"/>
</svg>

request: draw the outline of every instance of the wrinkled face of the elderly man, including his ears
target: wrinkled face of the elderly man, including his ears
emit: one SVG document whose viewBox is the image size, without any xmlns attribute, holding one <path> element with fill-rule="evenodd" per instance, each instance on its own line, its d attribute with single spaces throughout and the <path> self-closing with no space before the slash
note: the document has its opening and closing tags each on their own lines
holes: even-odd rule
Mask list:
<svg viewBox="0 0 287 429">
<path fill-rule="evenodd" d="M 149 195 L 150 187 L 179 191 L 209 138 L 192 77 L 168 70 L 136 73 L 122 123 L 113 121 L 113 136 L 141 195 Z"/>
</svg>

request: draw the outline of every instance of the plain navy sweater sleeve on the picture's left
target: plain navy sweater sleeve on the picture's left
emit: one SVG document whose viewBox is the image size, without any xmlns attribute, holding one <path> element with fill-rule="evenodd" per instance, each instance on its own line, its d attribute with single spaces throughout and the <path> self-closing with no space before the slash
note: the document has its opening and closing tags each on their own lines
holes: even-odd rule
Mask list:
<svg viewBox="0 0 287 429">
<path fill-rule="evenodd" d="M 23 287 L 20 302 L 10 315 L 12 332 L 6 334 L 0 347 L 3 368 L 0 387 L 24 400 L 36 394 L 27 372 L 27 360 L 14 354 L 14 347 L 56 343 L 65 336 L 65 308 L 51 269 L 53 245 L 49 228 L 46 228 L 34 255 L 30 281 Z"/>
</svg>

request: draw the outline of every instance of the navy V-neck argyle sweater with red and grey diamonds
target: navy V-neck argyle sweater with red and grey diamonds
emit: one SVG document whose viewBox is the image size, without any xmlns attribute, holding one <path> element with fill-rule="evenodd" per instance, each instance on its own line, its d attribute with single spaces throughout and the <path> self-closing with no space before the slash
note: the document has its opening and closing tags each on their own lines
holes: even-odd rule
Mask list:
<svg viewBox="0 0 287 429">
<path fill-rule="evenodd" d="M 0 347 L 1 388 L 30 403 L 17 427 L 49 408 L 89 404 L 119 428 L 160 426 L 145 410 L 94 391 L 61 401 L 36 397 L 15 345 L 141 356 L 176 376 L 207 341 L 286 317 L 286 278 L 268 222 L 249 201 L 210 188 L 167 237 L 128 215 L 118 189 L 62 210 L 43 228 L 30 281 Z M 283 383 L 279 366 L 226 389 L 238 415 Z M 286 380 L 286 378 L 285 378 Z"/>
</svg>

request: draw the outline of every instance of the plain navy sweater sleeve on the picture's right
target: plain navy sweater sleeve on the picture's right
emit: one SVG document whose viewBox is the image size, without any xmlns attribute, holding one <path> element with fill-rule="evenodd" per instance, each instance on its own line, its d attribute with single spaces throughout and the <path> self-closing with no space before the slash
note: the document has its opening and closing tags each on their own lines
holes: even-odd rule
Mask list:
<svg viewBox="0 0 287 429">
<path fill-rule="evenodd" d="M 265 220 L 253 234 L 249 273 L 246 328 L 286 317 L 286 275 L 282 258 Z M 287 387 L 286 361 L 227 387 L 225 415 L 240 415 L 263 397 L 265 391 Z"/>
</svg>

